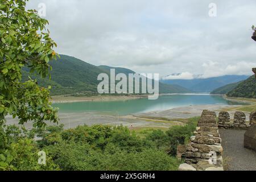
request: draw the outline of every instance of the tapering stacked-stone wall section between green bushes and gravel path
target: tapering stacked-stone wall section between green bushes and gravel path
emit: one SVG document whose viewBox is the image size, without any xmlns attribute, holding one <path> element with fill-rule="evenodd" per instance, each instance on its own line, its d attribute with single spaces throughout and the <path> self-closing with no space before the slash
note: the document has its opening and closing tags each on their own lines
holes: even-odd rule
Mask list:
<svg viewBox="0 0 256 182">
<path fill-rule="evenodd" d="M 187 144 L 185 164 L 180 165 L 179 171 L 223 171 L 222 152 L 216 113 L 204 110 Z"/>
</svg>

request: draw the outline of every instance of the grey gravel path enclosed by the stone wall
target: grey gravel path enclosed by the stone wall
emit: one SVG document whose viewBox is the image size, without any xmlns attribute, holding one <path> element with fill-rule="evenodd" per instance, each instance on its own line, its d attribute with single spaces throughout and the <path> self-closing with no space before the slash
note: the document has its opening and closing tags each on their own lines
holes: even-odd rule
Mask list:
<svg viewBox="0 0 256 182">
<path fill-rule="evenodd" d="M 245 130 L 220 129 L 224 163 L 229 171 L 256 171 L 256 152 L 243 147 Z"/>
</svg>

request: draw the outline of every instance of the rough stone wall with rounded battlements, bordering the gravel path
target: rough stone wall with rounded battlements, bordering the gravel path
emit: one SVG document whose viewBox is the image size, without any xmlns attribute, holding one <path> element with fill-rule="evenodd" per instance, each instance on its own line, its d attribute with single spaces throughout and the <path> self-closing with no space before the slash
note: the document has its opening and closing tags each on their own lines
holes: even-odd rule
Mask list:
<svg viewBox="0 0 256 182">
<path fill-rule="evenodd" d="M 253 125 L 251 125 L 253 124 Z M 251 127 L 250 127 L 251 126 Z M 254 126 L 254 127 L 253 127 Z M 185 163 L 179 171 L 223 171 L 221 136 L 218 127 L 225 129 L 244 129 L 245 147 L 256 150 L 256 111 L 250 114 L 250 125 L 246 124 L 246 115 L 241 111 L 234 114 L 234 122 L 230 122 L 230 114 L 221 111 L 218 123 L 214 111 L 204 110 L 196 131 L 187 144 Z"/>
</svg>

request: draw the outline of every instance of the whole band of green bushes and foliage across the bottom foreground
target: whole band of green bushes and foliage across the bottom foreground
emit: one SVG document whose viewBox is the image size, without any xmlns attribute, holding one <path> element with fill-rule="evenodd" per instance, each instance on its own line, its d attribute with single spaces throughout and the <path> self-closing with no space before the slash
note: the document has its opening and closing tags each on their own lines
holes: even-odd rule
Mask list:
<svg viewBox="0 0 256 182">
<path fill-rule="evenodd" d="M 5 151 L 10 155 L 0 156 L 8 161 L 2 163 L 6 165 L 2 169 L 176 170 L 180 164 L 176 159 L 177 145 L 187 142 L 198 120 L 192 118 L 187 125 L 174 126 L 166 132 L 150 130 L 143 137 L 124 126 L 85 125 L 64 130 L 60 125 L 31 131 L 9 126 L 6 134 L 11 149 Z M 38 151 L 47 152 L 47 166 L 38 165 Z"/>
</svg>

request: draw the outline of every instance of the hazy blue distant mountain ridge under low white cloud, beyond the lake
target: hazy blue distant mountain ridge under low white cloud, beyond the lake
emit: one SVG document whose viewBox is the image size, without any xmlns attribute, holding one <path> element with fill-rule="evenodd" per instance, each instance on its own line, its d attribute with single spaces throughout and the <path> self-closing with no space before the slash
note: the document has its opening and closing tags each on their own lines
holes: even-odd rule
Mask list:
<svg viewBox="0 0 256 182">
<path fill-rule="evenodd" d="M 235 82 L 246 80 L 249 76 L 246 75 L 226 75 L 220 77 L 211 78 L 195 78 L 192 80 L 160 80 L 165 84 L 174 84 L 183 86 L 186 89 L 192 90 L 194 92 L 210 93 L 213 90 L 225 86 L 227 84 L 232 84 Z"/>
</svg>

